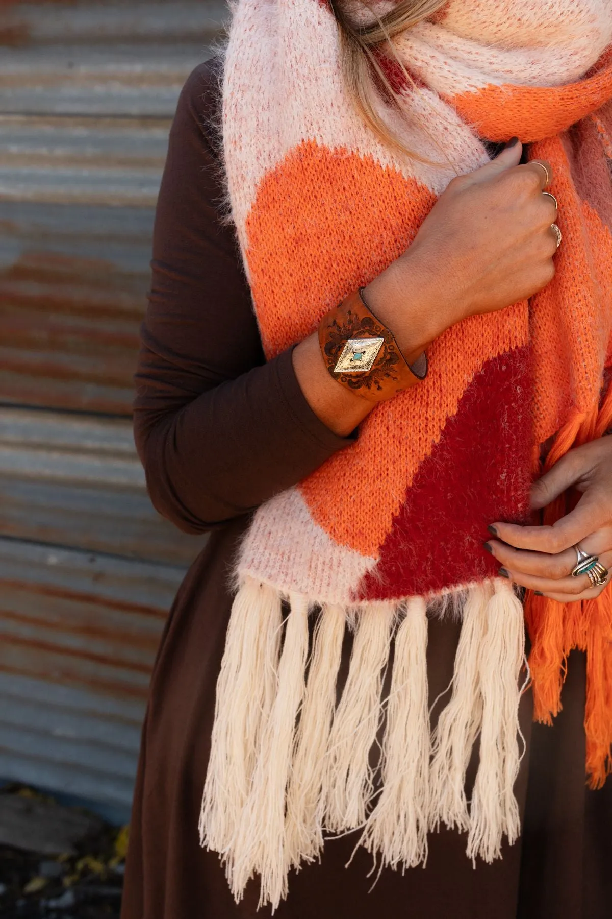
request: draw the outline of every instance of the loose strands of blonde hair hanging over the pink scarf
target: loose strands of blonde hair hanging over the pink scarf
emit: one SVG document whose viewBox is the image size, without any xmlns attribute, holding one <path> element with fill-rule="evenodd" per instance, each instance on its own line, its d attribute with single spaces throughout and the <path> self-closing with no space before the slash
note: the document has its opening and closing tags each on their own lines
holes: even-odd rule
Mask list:
<svg viewBox="0 0 612 919">
<path fill-rule="evenodd" d="M 394 39 L 407 28 L 412 28 L 423 19 L 438 13 L 447 5 L 448 0 L 398 0 L 398 3 L 382 16 L 378 16 L 372 6 L 363 0 L 359 6 L 369 10 L 373 17 L 367 23 L 351 16 L 350 7 L 356 8 L 351 0 L 328 2 L 338 22 L 342 75 L 355 108 L 381 141 L 402 153 L 414 156 L 414 153 L 407 150 L 406 145 L 395 136 L 380 114 L 377 102 L 381 95 L 393 108 L 400 108 L 399 92 L 385 72 L 381 59 L 390 58 L 404 74 L 408 84 L 414 85 L 412 77 L 395 51 Z"/>
</svg>

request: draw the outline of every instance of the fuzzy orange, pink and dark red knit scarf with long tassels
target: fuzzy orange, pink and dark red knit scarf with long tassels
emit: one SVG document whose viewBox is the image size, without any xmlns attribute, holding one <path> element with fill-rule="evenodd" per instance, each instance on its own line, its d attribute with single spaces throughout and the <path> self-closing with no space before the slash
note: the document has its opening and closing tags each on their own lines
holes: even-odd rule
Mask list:
<svg viewBox="0 0 612 919">
<path fill-rule="evenodd" d="M 563 242 L 546 289 L 451 327 L 424 382 L 254 515 L 200 820 L 237 900 L 259 875 L 275 907 L 326 834 L 359 831 L 380 865 L 406 868 L 446 824 L 468 857 L 499 857 L 520 833 L 521 690 L 530 678 L 550 721 L 572 648 L 588 658 L 591 784 L 611 771 L 610 589 L 566 607 L 528 594 L 524 608 L 483 549 L 492 521 L 528 520 L 534 477 L 612 421 L 611 42 L 607 0 L 451 0 L 397 43 L 414 78 L 395 67 L 404 112 L 380 103 L 409 157 L 352 106 L 325 3 L 238 0 L 223 142 L 268 358 L 406 250 L 451 178 L 488 161 L 484 140 L 517 135 L 550 161 Z M 564 513 L 558 501 L 545 522 Z M 428 619 L 451 615 L 461 638 L 432 727 Z"/>
</svg>

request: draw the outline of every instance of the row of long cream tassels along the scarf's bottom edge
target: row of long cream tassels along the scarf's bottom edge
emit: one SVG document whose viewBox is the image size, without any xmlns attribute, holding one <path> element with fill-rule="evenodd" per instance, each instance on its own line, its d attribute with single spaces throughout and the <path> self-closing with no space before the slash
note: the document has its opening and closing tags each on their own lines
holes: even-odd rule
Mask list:
<svg viewBox="0 0 612 919">
<path fill-rule="evenodd" d="M 309 659 L 314 604 L 297 595 L 289 604 L 283 623 L 279 593 L 244 579 L 217 683 L 200 838 L 225 862 L 236 901 L 259 874 L 260 905 L 274 910 L 290 868 L 316 858 L 326 832 L 361 828 L 359 845 L 392 868 L 424 863 L 428 828 L 440 823 L 467 832 L 472 859 L 499 857 L 503 837 L 513 843 L 520 832 L 513 787 L 525 636 L 511 585 L 497 579 L 467 592 L 451 699 L 433 735 L 422 599 L 324 607 Z M 347 625 L 355 635 L 338 701 Z M 479 735 L 468 807 L 465 774 Z"/>
</svg>

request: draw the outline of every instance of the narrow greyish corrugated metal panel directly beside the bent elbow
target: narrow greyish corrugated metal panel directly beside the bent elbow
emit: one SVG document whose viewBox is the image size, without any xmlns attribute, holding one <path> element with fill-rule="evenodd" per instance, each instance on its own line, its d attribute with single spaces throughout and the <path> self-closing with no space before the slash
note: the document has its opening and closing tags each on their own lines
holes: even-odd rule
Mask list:
<svg viewBox="0 0 612 919">
<path fill-rule="evenodd" d="M 205 545 L 150 505 L 131 424 L 0 408 L 0 533 L 188 565 Z"/>
</svg>

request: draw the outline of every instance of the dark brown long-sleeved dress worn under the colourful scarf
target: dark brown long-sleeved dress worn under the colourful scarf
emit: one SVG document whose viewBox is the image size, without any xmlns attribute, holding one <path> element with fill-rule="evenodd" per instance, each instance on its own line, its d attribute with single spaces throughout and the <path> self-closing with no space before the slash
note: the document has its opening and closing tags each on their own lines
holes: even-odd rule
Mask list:
<svg viewBox="0 0 612 919">
<path fill-rule="evenodd" d="M 265 364 L 234 233 L 221 218 L 211 127 L 215 65 L 195 70 L 172 128 L 142 327 L 135 431 L 154 505 L 179 528 L 210 531 L 172 607 L 152 676 L 132 814 L 123 919 L 238 919 L 256 914 L 251 882 L 236 905 L 216 854 L 200 848 L 215 686 L 228 625 L 228 576 L 250 513 L 350 440 L 313 414 L 286 352 Z M 459 627 L 430 625 L 432 698 L 448 685 Z M 385 870 L 355 837 L 328 841 L 293 873 L 278 919 L 610 919 L 612 781 L 584 784 L 584 661 L 573 654 L 554 728 L 522 726 L 517 782 L 522 840 L 473 869 L 465 839 L 440 831 L 427 868 Z M 270 915 L 269 909 L 257 913 Z"/>
</svg>

